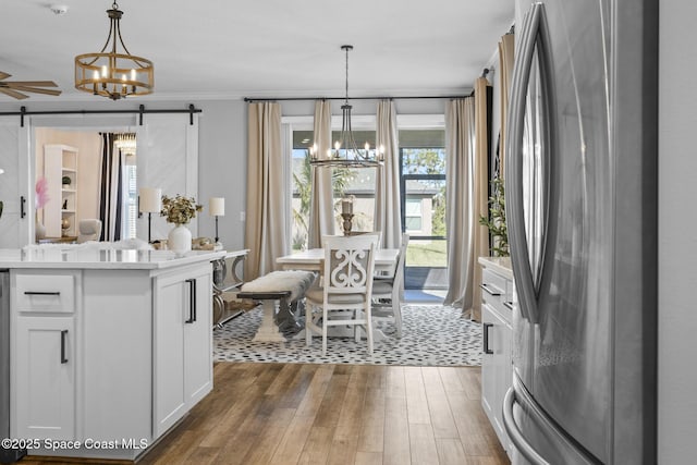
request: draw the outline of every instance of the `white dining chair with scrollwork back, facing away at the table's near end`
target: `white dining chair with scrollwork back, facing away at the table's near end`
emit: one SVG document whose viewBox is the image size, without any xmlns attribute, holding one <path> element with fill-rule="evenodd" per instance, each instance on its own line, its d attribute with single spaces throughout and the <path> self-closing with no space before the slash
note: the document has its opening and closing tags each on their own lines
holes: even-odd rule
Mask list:
<svg viewBox="0 0 697 465">
<path fill-rule="evenodd" d="M 330 327 L 353 327 L 360 341 L 366 333 L 368 353 L 372 354 L 372 274 L 375 272 L 375 236 L 326 236 L 322 279 L 305 293 L 305 341 L 313 334 L 322 336 L 322 355 L 327 354 Z"/>
</svg>

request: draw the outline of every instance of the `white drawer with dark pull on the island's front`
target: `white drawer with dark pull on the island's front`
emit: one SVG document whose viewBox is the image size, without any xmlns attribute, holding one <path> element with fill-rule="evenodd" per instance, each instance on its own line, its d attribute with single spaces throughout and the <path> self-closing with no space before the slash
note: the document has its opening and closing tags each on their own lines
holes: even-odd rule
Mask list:
<svg viewBox="0 0 697 465">
<path fill-rule="evenodd" d="M 19 311 L 75 311 L 73 274 L 17 274 L 15 305 Z"/>
</svg>

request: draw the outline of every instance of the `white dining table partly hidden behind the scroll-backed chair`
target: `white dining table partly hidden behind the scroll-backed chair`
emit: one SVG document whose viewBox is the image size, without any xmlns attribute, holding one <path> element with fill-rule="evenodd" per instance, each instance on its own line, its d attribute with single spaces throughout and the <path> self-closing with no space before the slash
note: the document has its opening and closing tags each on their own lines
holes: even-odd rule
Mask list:
<svg viewBox="0 0 697 465">
<path fill-rule="evenodd" d="M 375 250 L 375 272 L 376 274 L 394 276 L 396 260 L 400 255 L 399 248 L 378 248 Z M 284 270 L 308 270 L 321 271 L 325 262 L 323 248 L 308 248 L 294 254 L 278 257 L 276 262 Z M 345 327 L 332 327 L 329 329 L 330 336 L 351 336 Z M 353 331 L 353 330 L 351 330 Z M 305 330 L 295 334 L 293 339 L 304 339 Z M 389 339 L 382 331 L 372 329 L 372 339 L 376 342 Z"/>
</svg>

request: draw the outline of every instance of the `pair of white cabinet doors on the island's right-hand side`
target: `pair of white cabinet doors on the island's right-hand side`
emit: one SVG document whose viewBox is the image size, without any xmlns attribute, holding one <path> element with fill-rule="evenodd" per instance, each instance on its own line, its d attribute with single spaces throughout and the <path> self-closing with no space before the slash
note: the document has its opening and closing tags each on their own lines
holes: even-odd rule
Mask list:
<svg viewBox="0 0 697 465">
<path fill-rule="evenodd" d="M 156 278 L 155 437 L 212 389 L 212 267 Z"/>
</svg>

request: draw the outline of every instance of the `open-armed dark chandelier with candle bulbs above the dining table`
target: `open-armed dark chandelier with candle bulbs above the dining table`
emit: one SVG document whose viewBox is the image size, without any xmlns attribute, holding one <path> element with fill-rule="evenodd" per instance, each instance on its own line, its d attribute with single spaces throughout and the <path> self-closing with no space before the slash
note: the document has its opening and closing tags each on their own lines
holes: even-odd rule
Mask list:
<svg viewBox="0 0 697 465">
<path fill-rule="evenodd" d="M 344 105 L 341 106 L 341 134 L 339 139 L 334 142 L 334 148 L 327 150 L 327 157 L 320 158 L 317 152 L 317 145 L 313 145 L 309 149 L 309 162 L 314 167 L 332 167 L 332 168 L 374 168 L 379 167 L 384 161 L 382 149 L 370 151 L 370 145 L 366 143 L 365 147 L 359 150 L 353 136 L 351 127 L 351 105 L 348 105 L 348 51 L 353 50 L 353 46 L 341 46 L 346 52 L 346 96 Z"/>
</svg>

